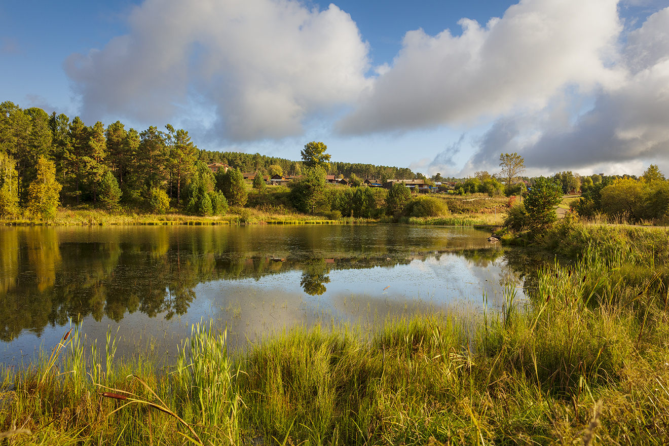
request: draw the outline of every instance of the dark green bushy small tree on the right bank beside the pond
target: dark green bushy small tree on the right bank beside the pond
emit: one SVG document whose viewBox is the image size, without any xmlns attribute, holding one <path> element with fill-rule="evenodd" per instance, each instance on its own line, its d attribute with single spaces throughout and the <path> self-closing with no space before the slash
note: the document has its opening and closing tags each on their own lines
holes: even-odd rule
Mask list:
<svg viewBox="0 0 669 446">
<path fill-rule="evenodd" d="M 524 206 L 532 233 L 545 231 L 557 220 L 555 207 L 562 199 L 562 187 L 555 179 L 539 177 L 527 192 Z"/>
</svg>

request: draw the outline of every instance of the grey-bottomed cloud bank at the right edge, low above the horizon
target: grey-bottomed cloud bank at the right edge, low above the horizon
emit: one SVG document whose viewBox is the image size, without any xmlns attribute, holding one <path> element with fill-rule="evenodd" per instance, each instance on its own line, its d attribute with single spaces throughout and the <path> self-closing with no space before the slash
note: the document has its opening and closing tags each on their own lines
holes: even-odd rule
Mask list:
<svg viewBox="0 0 669 446">
<path fill-rule="evenodd" d="M 650 162 L 669 165 L 668 30 L 666 8 L 627 36 L 617 63 L 617 70 L 626 76 L 611 88 L 597 90 L 587 112 L 575 115 L 566 111 L 565 104 L 552 104 L 533 114 L 499 118 L 481 139 L 468 171 L 511 151 L 537 169 L 591 171 L 615 164 L 638 170 Z M 574 119 L 556 119 L 555 109 Z"/>
</svg>

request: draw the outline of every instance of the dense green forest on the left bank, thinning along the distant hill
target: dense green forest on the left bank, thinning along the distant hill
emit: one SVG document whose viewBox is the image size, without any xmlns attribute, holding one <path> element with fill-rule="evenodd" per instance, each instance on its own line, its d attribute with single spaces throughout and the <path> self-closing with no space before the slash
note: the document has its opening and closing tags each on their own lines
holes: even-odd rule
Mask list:
<svg viewBox="0 0 669 446">
<path fill-rule="evenodd" d="M 56 112 L 48 115 L 41 108 L 0 104 L 0 187 L 4 187 L 0 200 L 9 208 L 11 197 L 17 205 L 29 205 L 29 188 L 38 177 L 42 192 L 60 185 L 57 199 L 63 205 L 97 205 L 103 189 L 114 195 L 116 188 L 126 205 L 155 201 L 161 192 L 173 205 L 185 205 L 183 195 L 192 195 L 189 186 L 197 177 L 198 161 L 222 162 L 240 172 L 264 175 L 300 175 L 304 169 L 302 161 L 259 153 L 199 150 L 187 130 L 170 124 L 163 130 L 150 126 L 142 131 L 120 121 L 87 126 L 78 116 L 70 119 Z M 347 162 L 330 163 L 328 173 L 362 179 L 415 177 L 406 168 Z M 45 185 L 49 175 L 53 178 Z"/>
</svg>

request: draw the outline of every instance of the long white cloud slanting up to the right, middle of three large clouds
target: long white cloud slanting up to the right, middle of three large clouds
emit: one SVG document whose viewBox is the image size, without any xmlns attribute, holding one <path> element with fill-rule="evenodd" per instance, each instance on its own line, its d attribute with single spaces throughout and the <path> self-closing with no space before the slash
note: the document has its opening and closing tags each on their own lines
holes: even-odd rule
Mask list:
<svg viewBox="0 0 669 446">
<path fill-rule="evenodd" d="M 565 85 L 615 85 L 622 30 L 615 0 L 524 0 L 462 35 L 406 33 L 393 67 L 339 122 L 344 133 L 478 123 L 541 108 Z"/>
</svg>

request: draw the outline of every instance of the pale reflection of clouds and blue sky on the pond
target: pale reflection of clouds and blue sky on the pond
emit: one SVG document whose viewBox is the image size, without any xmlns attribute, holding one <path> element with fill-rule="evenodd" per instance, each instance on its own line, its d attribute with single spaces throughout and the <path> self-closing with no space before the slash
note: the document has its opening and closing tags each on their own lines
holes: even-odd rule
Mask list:
<svg viewBox="0 0 669 446">
<path fill-rule="evenodd" d="M 302 290 L 302 271 L 292 270 L 259 280 L 219 280 L 200 284 L 196 302 L 207 300 L 234 337 L 256 338 L 294 324 L 381 324 L 388 317 L 446 311 L 460 307 L 479 311 L 500 306 L 509 277 L 506 262 L 487 267 L 458 253 L 430 255 L 406 265 L 367 269 L 330 269 L 327 290 L 309 296 Z M 518 297 L 522 291 L 518 291 Z M 193 312 L 191 310 L 189 314 Z"/>
</svg>

